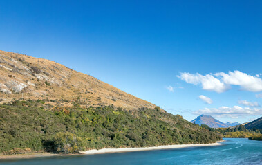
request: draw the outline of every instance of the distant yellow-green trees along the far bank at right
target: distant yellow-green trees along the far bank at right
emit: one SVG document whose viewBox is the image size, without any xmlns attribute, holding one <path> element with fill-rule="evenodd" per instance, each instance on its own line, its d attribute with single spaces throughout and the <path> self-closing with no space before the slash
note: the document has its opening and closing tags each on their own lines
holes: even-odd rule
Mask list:
<svg viewBox="0 0 262 165">
<path fill-rule="evenodd" d="M 238 125 L 230 128 L 209 128 L 209 126 L 203 124 L 201 125 L 205 129 L 209 129 L 209 131 L 213 131 L 216 133 L 221 133 L 223 137 L 226 138 L 249 138 L 251 140 L 261 140 L 261 133 L 259 129 L 245 129 L 245 126 Z"/>
</svg>

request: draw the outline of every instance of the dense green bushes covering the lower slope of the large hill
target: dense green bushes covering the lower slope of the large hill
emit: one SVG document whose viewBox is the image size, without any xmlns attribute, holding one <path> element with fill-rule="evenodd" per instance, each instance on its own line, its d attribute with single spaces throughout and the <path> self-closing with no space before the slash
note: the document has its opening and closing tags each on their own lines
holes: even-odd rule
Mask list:
<svg viewBox="0 0 262 165">
<path fill-rule="evenodd" d="M 0 153 L 211 143 L 216 133 L 155 109 L 53 107 L 45 100 L 0 105 Z"/>
</svg>

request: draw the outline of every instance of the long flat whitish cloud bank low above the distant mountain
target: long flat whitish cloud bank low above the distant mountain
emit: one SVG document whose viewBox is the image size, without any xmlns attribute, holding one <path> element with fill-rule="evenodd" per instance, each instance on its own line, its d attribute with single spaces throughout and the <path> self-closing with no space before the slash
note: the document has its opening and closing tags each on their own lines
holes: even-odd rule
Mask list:
<svg viewBox="0 0 262 165">
<path fill-rule="evenodd" d="M 200 109 L 198 111 L 194 111 L 195 115 L 212 115 L 216 118 L 221 117 L 230 117 L 230 118 L 238 118 L 239 116 L 245 116 L 245 115 L 262 115 L 262 109 L 261 108 L 250 108 L 250 107 L 220 107 L 220 108 L 205 108 Z"/>
</svg>

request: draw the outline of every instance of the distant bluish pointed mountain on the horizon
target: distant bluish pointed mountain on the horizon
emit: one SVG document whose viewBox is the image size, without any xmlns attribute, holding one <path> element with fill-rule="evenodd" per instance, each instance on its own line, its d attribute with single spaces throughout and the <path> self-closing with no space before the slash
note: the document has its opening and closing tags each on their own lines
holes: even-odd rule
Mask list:
<svg viewBox="0 0 262 165">
<path fill-rule="evenodd" d="M 230 126 L 236 126 L 236 125 L 239 124 L 238 122 L 223 123 L 219 120 L 214 119 L 211 115 L 199 115 L 197 118 L 195 118 L 191 122 L 195 123 L 195 124 L 199 124 L 199 125 L 206 124 L 210 128 L 226 128 L 226 127 L 230 127 Z"/>
</svg>

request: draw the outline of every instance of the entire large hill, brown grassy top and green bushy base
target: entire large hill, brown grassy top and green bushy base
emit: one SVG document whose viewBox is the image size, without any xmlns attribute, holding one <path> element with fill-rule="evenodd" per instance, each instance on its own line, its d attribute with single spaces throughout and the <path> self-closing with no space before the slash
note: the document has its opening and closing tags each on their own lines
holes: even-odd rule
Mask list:
<svg viewBox="0 0 262 165">
<path fill-rule="evenodd" d="M 221 136 L 53 61 L 0 52 L 0 153 L 207 144 Z"/>
</svg>

